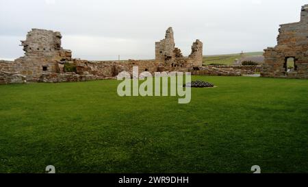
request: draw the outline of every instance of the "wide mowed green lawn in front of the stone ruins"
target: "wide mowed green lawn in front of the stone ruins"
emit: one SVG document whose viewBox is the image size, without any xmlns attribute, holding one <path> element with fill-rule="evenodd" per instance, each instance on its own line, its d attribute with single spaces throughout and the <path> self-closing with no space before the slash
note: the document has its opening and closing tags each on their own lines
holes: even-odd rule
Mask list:
<svg viewBox="0 0 308 187">
<path fill-rule="evenodd" d="M 193 79 L 218 87 L 178 104 L 116 80 L 0 86 L 0 173 L 307 173 L 307 80 Z"/>
</svg>

